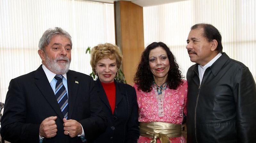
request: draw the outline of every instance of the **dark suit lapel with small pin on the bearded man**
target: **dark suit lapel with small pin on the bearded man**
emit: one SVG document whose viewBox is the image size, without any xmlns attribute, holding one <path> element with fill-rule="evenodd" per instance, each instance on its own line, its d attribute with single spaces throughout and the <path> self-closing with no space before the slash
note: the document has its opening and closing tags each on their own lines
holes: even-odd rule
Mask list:
<svg viewBox="0 0 256 143">
<path fill-rule="evenodd" d="M 69 92 L 69 113 L 68 119 L 72 117 L 73 109 L 76 103 L 79 81 L 70 71 L 67 73 L 68 92 Z"/>
</svg>

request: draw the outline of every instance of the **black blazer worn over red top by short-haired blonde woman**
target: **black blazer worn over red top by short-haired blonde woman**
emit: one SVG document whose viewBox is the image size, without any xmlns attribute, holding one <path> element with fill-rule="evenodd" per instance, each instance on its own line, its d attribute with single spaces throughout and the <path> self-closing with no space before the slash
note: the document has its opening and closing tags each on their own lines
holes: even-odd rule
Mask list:
<svg viewBox="0 0 256 143">
<path fill-rule="evenodd" d="M 103 111 L 108 119 L 106 131 L 96 143 L 137 143 L 139 138 L 138 104 L 135 89 L 124 83 L 116 82 L 116 102 L 114 114 L 100 80 L 96 82 Z"/>
</svg>

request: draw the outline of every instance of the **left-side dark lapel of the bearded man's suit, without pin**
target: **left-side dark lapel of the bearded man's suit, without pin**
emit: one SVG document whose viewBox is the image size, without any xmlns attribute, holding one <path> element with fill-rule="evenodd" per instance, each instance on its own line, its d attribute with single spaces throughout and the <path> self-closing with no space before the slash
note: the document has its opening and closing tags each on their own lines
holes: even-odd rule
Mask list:
<svg viewBox="0 0 256 143">
<path fill-rule="evenodd" d="M 53 89 L 45 75 L 42 65 L 36 70 L 35 84 L 37 85 L 38 89 L 42 92 L 43 96 L 48 101 L 48 103 L 52 106 L 54 111 L 57 113 L 57 115 L 60 118 L 63 118 L 63 114 L 61 112 L 60 106 L 57 103 Z"/>
</svg>

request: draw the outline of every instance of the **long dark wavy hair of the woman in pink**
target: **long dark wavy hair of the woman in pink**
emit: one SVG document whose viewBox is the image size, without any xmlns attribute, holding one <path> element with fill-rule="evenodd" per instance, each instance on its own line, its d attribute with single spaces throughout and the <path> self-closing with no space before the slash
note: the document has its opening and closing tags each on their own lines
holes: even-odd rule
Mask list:
<svg viewBox="0 0 256 143">
<path fill-rule="evenodd" d="M 170 49 L 163 42 L 153 42 L 148 45 L 144 52 L 141 54 L 141 60 L 137 68 L 137 72 L 134 76 L 134 82 L 138 85 L 138 89 L 143 92 L 150 92 L 152 90 L 152 83 L 154 81 L 153 74 L 149 67 L 149 53 L 152 49 L 156 47 L 162 47 L 168 56 L 170 69 L 167 76 L 167 85 L 169 89 L 177 89 L 180 84 L 182 84 L 181 71 L 176 62 L 174 55 L 171 53 Z"/>
</svg>

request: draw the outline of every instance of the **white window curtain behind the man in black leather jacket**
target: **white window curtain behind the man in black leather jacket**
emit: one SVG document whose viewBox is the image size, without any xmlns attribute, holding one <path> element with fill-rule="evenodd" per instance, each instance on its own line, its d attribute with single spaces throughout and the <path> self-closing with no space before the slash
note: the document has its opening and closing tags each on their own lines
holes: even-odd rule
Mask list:
<svg viewBox="0 0 256 143">
<path fill-rule="evenodd" d="M 255 0 L 186 0 L 144 7 L 145 46 L 154 41 L 167 44 L 186 76 L 187 69 L 194 64 L 186 50 L 190 27 L 209 23 L 221 32 L 223 52 L 243 62 L 255 80 L 255 9 Z"/>
</svg>

